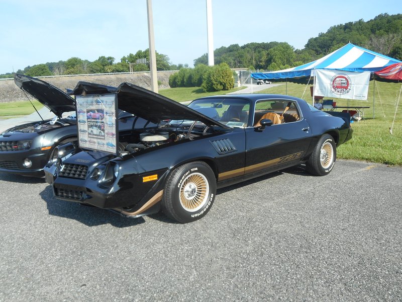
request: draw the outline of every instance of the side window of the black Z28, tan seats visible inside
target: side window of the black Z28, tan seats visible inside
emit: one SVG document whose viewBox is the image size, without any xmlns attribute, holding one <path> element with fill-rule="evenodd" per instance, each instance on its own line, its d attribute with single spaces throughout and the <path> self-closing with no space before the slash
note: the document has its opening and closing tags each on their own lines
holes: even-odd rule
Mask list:
<svg viewBox="0 0 402 302">
<path fill-rule="evenodd" d="M 273 125 L 292 123 L 300 119 L 295 103 L 290 100 L 261 100 L 255 104 L 254 126 L 262 119 L 270 119 Z"/>
</svg>

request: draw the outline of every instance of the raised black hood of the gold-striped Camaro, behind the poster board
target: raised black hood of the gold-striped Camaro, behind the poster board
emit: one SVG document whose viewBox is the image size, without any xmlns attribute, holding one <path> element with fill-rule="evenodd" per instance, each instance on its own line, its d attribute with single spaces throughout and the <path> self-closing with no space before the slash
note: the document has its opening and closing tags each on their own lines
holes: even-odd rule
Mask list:
<svg viewBox="0 0 402 302">
<path fill-rule="evenodd" d="M 162 120 L 196 120 L 208 126 L 216 125 L 230 128 L 178 102 L 130 83 L 122 83 L 116 88 L 88 82 L 78 82 L 71 94 L 90 95 L 107 93 L 117 94 L 119 109 L 153 123 L 159 123 Z"/>
</svg>

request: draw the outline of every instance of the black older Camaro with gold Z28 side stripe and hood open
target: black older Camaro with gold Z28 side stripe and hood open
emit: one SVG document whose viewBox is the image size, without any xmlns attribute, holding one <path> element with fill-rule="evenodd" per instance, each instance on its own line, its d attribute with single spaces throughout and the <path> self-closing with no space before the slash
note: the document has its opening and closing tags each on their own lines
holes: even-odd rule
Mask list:
<svg viewBox="0 0 402 302">
<path fill-rule="evenodd" d="M 217 188 L 298 164 L 326 175 L 336 147 L 352 137 L 347 121 L 284 95 L 212 96 L 186 107 L 129 83 L 79 82 L 73 94 L 77 106 L 96 104 L 105 118 L 115 102 L 149 123 L 134 120 L 116 137 L 57 147 L 46 181 L 59 199 L 128 217 L 162 209 L 191 222 L 211 209 Z M 113 125 L 106 121 L 105 131 Z"/>
</svg>

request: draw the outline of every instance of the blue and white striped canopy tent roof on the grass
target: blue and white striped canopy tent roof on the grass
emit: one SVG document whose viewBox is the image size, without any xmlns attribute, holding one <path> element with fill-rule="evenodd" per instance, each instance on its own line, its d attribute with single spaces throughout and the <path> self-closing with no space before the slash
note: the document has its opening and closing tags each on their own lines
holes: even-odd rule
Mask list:
<svg viewBox="0 0 402 302">
<path fill-rule="evenodd" d="M 253 79 L 305 83 L 314 69 L 377 71 L 401 61 L 348 43 L 316 61 L 283 70 L 251 73 Z M 307 78 L 307 79 L 306 79 Z"/>
</svg>

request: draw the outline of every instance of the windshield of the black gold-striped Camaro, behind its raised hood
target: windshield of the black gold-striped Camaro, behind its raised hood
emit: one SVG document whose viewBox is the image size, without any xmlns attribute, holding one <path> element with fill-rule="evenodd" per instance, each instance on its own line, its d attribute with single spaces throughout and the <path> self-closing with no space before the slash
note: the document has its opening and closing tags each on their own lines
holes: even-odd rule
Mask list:
<svg viewBox="0 0 402 302">
<path fill-rule="evenodd" d="M 227 126 L 246 127 L 248 124 L 250 102 L 245 99 L 199 99 L 191 102 L 188 107 Z"/>
</svg>

